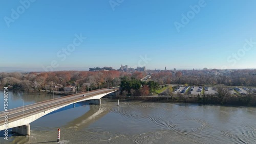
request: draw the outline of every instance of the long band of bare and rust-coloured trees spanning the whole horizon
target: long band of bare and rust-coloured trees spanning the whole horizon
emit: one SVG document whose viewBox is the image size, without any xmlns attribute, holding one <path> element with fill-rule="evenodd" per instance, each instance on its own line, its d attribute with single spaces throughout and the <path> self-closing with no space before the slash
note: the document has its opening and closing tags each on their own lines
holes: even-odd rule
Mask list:
<svg viewBox="0 0 256 144">
<path fill-rule="evenodd" d="M 106 67 L 111 68 L 111 67 Z M 150 83 L 146 84 L 149 92 L 152 92 L 151 85 L 164 84 L 188 84 L 188 85 L 219 85 L 226 86 L 256 86 L 255 69 L 237 69 L 225 72 L 224 70 L 180 70 L 180 71 L 147 71 L 151 75 Z M 225 72 L 225 73 L 224 73 Z M 213 75 L 212 73 L 219 73 Z M 84 91 L 88 88 L 97 89 L 111 86 L 119 86 L 122 80 L 132 80 L 132 84 L 125 89 L 131 93 L 131 89 L 138 91 L 138 81 L 145 77 L 146 72 L 135 71 L 125 73 L 118 70 L 101 71 L 53 71 L 53 72 L 32 72 L 32 73 L 0 73 L 0 86 L 13 86 L 14 89 L 49 90 L 54 85 L 74 85 L 77 90 Z M 126 77 L 126 78 L 124 78 Z M 136 80 L 136 81 L 135 81 Z M 141 83 L 144 86 L 145 83 Z M 153 89 L 156 89 L 155 86 Z M 132 90 L 132 91 L 133 91 Z M 136 94 L 136 92 L 134 92 Z"/>
</svg>

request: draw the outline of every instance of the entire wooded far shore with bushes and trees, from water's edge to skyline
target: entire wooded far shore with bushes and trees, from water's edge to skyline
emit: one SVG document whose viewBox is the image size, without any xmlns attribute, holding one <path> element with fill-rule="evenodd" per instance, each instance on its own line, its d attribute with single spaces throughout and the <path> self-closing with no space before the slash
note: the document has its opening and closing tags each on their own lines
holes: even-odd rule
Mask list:
<svg viewBox="0 0 256 144">
<path fill-rule="evenodd" d="M 96 69 L 98 70 L 98 69 Z M 0 87 L 70 95 L 100 88 L 119 87 L 118 99 L 153 102 L 256 106 L 256 69 L 50 71 L 0 73 Z M 179 92 L 179 86 L 187 87 Z M 191 87 L 201 92 L 191 94 Z M 214 87 L 207 94 L 205 88 Z M 251 89 L 239 92 L 234 87 Z M 194 87 L 193 87 L 194 88 Z M 231 93 L 228 89 L 233 89 Z M 181 90 L 181 89 L 180 89 Z M 176 92 L 175 92 L 176 91 Z"/>
</svg>

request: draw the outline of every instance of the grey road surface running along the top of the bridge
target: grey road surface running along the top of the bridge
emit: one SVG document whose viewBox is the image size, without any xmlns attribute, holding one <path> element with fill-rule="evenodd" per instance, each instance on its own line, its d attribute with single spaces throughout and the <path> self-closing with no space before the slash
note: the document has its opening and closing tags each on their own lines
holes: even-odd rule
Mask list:
<svg viewBox="0 0 256 144">
<path fill-rule="evenodd" d="M 5 123 L 5 115 L 8 114 L 8 123 L 15 121 L 16 119 L 20 119 L 29 115 L 33 115 L 37 112 L 46 111 L 47 109 L 51 109 L 54 107 L 62 106 L 69 103 L 76 103 L 76 101 L 91 98 L 95 95 L 102 94 L 102 93 L 108 93 L 115 91 L 117 89 L 98 89 L 98 90 L 92 90 L 89 92 L 82 92 L 82 93 L 76 93 L 72 95 L 67 95 L 65 97 L 60 97 L 56 99 L 51 99 L 43 102 L 34 103 L 31 105 L 26 105 L 24 107 L 18 107 L 14 109 L 10 109 L 8 111 L 2 111 L 0 112 L 0 123 Z M 86 95 L 86 97 L 83 97 L 83 95 Z M 7 113 L 8 112 L 8 113 Z"/>
</svg>

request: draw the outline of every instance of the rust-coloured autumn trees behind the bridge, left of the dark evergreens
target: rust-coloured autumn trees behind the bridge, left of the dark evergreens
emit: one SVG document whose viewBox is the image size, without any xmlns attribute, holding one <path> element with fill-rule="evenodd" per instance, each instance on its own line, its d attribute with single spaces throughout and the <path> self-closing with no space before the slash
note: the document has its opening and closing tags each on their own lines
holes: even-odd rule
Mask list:
<svg viewBox="0 0 256 144">
<path fill-rule="evenodd" d="M 127 74 L 117 70 L 109 71 L 51 71 L 32 73 L 0 73 L 0 86 L 11 86 L 16 90 L 35 91 L 51 90 L 55 85 L 63 87 L 73 85 L 77 91 L 115 87 L 120 85 L 120 78 L 131 77 L 141 79 L 145 73 Z M 55 90 L 63 90 L 55 89 Z"/>
</svg>

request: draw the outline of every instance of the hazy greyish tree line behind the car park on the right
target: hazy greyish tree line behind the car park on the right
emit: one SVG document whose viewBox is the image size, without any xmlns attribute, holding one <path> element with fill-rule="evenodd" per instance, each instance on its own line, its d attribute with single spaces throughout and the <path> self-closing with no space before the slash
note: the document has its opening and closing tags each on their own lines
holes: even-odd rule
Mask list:
<svg viewBox="0 0 256 144">
<path fill-rule="evenodd" d="M 256 69 L 160 71 L 152 80 L 162 84 L 256 86 Z"/>
</svg>

